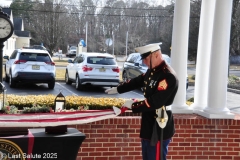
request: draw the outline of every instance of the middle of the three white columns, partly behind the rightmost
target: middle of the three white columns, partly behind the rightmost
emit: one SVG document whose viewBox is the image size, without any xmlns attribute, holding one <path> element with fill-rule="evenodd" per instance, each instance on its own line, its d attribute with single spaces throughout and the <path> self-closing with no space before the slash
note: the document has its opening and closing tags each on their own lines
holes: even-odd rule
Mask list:
<svg viewBox="0 0 240 160">
<path fill-rule="evenodd" d="M 216 0 L 202 0 L 195 74 L 194 112 L 207 107 L 208 76 Z"/>
</svg>

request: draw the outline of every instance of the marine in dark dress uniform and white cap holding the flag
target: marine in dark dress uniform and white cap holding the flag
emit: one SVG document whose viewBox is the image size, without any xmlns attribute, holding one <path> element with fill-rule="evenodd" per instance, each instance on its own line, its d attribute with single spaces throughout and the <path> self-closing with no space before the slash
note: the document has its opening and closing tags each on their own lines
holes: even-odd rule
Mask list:
<svg viewBox="0 0 240 160">
<path fill-rule="evenodd" d="M 143 160 L 160 160 L 161 136 L 163 138 L 163 159 L 161 160 L 165 160 L 168 144 L 175 133 L 174 119 L 170 110 L 165 111 L 168 121 L 165 122 L 166 126 L 161 132 L 156 121 L 156 110 L 161 107 L 165 110 L 166 106 L 172 104 L 178 89 L 178 79 L 174 70 L 163 60 L 158 43 L 138 47 L 135 50 L 141 54 L 144 63 L 148 65 L 147 72 L 118 87 L 106 90 L 106 93 L 124 93 L 143 87 L 144 100 L 138 102 L 126 100 L 123 106 L 131 108 L 133 113 L 142 113 L 140 138 Z"/>
</svg>

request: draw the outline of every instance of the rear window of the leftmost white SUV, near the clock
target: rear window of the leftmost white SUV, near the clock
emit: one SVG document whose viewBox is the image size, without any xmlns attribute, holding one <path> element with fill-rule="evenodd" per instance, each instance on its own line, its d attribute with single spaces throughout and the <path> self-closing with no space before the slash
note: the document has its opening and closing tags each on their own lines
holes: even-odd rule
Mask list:
<svg viewBox="0 0 240 160">
<path fill-rule="evenodd" d="M 38 61 L 38 62 L 51 62 L 50 57 L 48 54 L 44 53 L 21 53 L 20 60 L 25 60 L 25 61 Z"/>
</svg>

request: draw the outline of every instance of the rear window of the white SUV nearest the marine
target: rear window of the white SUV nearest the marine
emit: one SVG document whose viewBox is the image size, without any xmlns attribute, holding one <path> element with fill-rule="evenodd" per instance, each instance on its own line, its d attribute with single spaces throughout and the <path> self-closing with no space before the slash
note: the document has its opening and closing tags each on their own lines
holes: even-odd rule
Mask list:
<svg viewBox="0 0 240 160">
<path fill-rule="evenodd" d="M 103 64 L 103 65 L 115 65 L 116 62 L 111 57 L 88 57 L 87 63 L 89 64 Z"/>
</svg>

